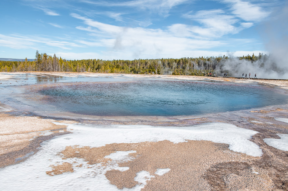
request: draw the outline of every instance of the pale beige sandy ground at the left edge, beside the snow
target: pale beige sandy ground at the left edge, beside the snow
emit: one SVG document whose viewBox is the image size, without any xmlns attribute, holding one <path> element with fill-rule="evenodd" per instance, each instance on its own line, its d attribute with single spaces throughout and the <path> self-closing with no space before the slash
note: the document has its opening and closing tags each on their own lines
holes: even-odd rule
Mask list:
<svg viewBox="0 0 288 191">
<path fill-rule="evenodd" d="M 52 122 L 55 120 L 0 113 L 0 167 L 14 163 L 16 158 L 27 153 L 35 152 L 39 147 L 38 143 L 41 143 L 39 140 L 68 133 L 65 125 L 55 125 Z"/>
</svg>

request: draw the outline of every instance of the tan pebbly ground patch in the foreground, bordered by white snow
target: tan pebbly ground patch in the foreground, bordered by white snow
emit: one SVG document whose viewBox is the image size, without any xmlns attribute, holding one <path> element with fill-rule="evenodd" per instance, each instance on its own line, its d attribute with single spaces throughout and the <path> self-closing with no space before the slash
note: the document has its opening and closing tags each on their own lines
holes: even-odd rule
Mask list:
<svg viewBox="0 0 288 191">
<path fill-rule="evenodd" d="M 130 154 L 135 159 L 118 163 L 120 167 L 129 167 L 129 169 L 123 172 L 113 169 L 105 174 L 111 184 L 116 185 L 119 189 L 136 186 L 138 184 L 134 180 L 136 173 L 145 170 L 155 178 L 151 178 L 151 181 L 142 190 L 212 190 L 208 181 L 203 178 L 207 169 L 218 163 L 247 162 L 257 159 L 257 157 L 230 151 L 228 145 L 211 141 L 188 141 L 177 144 L 170 141 L 123 143 L 97 148 L 67 147 L 62 154 L 67 158 L 84 158 L 89 164 L 102 162 L 103 165 L 109 165 L 107 161 L 103 161 L 105 155 L 115 151 L 129 150 L 137 151 Z M 157 169 L 165 168 L 169 168 L 170 171 L 163 176 L 155 174 Z M 252 174 L 252 171 L 248 174 Z M 258 177 L 260 176 L 262 174 Z M 253 186 L 264 186 L 263 190 L 271 190 L 272 181 L 268 176 L 265 178 L 268 184 L 262 184 L 260 180 L 254 181 L 255 185 Z M 253 180 L 253 178 L 250 179 Z M 248 188 L 253 188 L 253 186 L 249 185 Z"/>
</svg>

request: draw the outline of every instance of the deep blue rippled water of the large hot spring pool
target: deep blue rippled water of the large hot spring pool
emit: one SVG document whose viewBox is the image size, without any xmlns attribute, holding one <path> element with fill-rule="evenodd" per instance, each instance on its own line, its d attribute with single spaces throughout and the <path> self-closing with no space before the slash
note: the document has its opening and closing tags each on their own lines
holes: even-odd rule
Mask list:
<svg viewBox="0 0 288 191">
<path fill-rule="evenodd" d="M 287 95 L 271 88 L 187 81 L 58 83 L 29 94 L 39 110 L 95 116 L 197 115 L 287 103 Z"/>
</svg>

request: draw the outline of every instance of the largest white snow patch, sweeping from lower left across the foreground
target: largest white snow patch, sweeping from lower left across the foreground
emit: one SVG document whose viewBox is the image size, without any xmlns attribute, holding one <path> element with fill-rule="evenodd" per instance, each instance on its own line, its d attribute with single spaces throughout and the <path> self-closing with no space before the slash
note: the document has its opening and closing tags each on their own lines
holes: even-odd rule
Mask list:
<svg viewBox="0 0 288 191">
<path fill-rule="evenodd" d="M 56 123 L 55 124 L 60 124 Z M 117 169 L 118 163 L 109 162 L 103 166 L 87 164 L 85 159 L 62 159 L 59 153 L 67 146 L 101 147 L 112 143 L 139 143 L 145 141 L 168 140 L 173 143 L 186 142 L 187 140 L 207 140 L 216 143 L 229 144 L 229 149 L 246 153 L 252 156 L 261 156 L 262 151 L 258 145 L 249 141 L 257 131 L 239 128 L 227 123 L 207 123 L 187 127 L 163 127 L 145 125 L 86 125 L 64 124 L 73 132 L 56 136 L 54 139 L 44 141 L 39 151 L 18 164 L 6 166 L 0 169 L 0 190 L 118 190 L 106 178 L 107 170 Z M 280 140 L 280 139 L 278 139 Z M 116 151 L 109 158 L 115 160 L 125 159 L 128 153 L 135 151 Z M 113 160 L 112 159 L 112 160 Z M 77 163 L 73 163 L 76 161 Z M 74 172 L 49 176 L 46 171 L 51 171 L 51 165 L 69 162 L 73 165 Z M 77 165 L 83 164 L 82 167 Z M 89 168 L 88 168 L 89 167 Z M 127 170 L 126 168 L 120 168 Z M 123 188 L 123 191 L 141 190 L 147 180 L 154 177 L 153 172 L 140 171 L 135 180 L 137 184 L 133 188 Z M 43 184 L 45 182 L 45 184 Z"/>
</svg>

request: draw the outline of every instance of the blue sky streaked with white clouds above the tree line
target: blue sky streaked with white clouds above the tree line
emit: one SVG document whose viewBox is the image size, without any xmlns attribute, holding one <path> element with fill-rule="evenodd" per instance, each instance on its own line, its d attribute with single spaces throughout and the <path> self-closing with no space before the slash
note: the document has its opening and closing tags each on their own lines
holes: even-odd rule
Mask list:
<svg viewBox="0 0 288 191">
<path fill-rule="evenodd" d="M 146 59 L 259 54 L 284 1 L 1 0 L 0 57 Z"/>
</svg>

